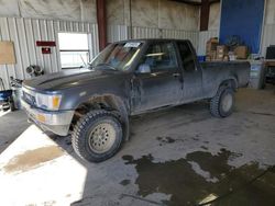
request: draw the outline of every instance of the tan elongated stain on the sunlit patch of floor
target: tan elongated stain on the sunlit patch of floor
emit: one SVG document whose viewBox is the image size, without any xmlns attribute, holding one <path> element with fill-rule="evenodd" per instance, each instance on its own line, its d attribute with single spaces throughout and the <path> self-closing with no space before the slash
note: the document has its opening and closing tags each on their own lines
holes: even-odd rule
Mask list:
<svg viewBox="0 0 275 206">
<path fill-rule="evenodd" d="M 42 163 L 63 156 L 64 151 L 57 146 L 47 146 L 34 150 L 28 150 L 24 153 L 12 158 L 3 168 L 6 172 L 29 171 L 38 168 Z"/>
</svg>

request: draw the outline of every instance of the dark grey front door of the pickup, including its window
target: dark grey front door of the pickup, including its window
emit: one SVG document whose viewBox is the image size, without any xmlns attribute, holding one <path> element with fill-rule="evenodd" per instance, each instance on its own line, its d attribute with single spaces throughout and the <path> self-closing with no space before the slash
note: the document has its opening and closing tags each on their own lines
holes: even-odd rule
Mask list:
<svg viewBox="0 0 275 206">
<path fill-rule="evenodd" d="M 177 104 L 183 95 L 182 71 L 174 42 L 153 42 L 133 79 L 135 113 Z"/>
</svg>

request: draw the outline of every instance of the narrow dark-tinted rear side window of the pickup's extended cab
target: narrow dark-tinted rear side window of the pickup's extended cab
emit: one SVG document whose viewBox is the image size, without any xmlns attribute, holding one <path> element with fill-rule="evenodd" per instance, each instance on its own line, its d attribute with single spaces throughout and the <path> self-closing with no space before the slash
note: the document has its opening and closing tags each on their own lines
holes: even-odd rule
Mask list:
<svg viewBox="0 0 275 206">
<path fill-rule="evenodd" d="M 194 61 L 191 49 L 189 48 L 188 44 L 185 42 L 177 43 L 179 55 L 183 61 L 184 70 L 187 72 L 191 72 L 195 70 L 196 65 Z"/>
</svg>

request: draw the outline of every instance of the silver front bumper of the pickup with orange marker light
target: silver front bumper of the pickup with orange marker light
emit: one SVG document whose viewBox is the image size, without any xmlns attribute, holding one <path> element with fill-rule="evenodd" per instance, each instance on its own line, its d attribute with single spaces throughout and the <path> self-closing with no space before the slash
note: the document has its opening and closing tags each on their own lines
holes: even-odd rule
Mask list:
<svg viewBox="0 0 275 206">
<path fill-rule="evenodd" d="M 35 108 L 21 100 L 22 107 L 31 118 L 43 130 L 50 130 L 59 136 L 67 136 L 74 116 L 74 111 L 50 112 Z"/>
</svg>

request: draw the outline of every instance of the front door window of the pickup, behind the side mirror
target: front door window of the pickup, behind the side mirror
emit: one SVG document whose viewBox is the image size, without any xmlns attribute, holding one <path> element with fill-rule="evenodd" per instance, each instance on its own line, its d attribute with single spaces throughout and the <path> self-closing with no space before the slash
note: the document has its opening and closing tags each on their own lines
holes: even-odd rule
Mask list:
<svg viewBox="0 0 275 206">
<path fill-rule="evenodd" d="M 152 71 L 177 67 L 176 52 L 173 43 L 152 44 L 141 64 L 148 65 Z"/>
</svg>

